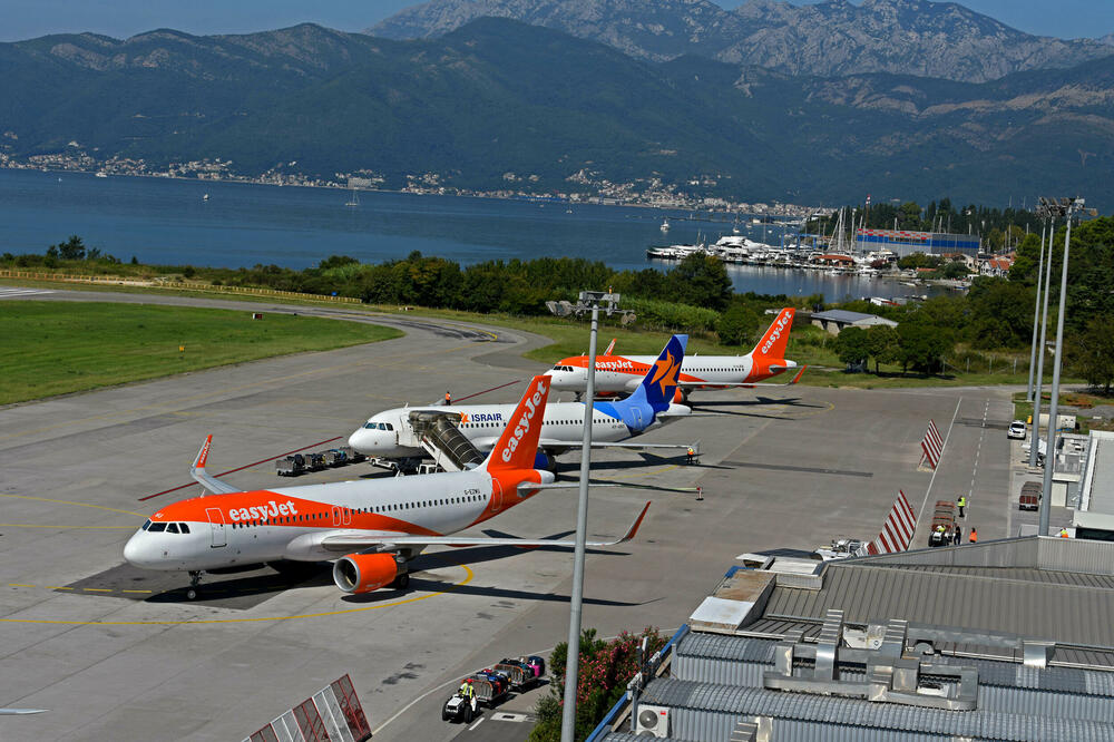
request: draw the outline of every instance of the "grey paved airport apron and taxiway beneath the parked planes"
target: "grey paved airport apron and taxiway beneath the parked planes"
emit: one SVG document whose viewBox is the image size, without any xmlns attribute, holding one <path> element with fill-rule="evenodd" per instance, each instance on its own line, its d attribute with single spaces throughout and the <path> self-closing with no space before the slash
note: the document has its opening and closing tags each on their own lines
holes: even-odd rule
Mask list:
<svg viewBox="0 0 1114 742">
<path fill-rule="evenodd" d="M 9 295 L 310 313 L 173 296 Z M 342 307 L 313 312 L 368 321 Z M 441 722 L 440 704 L 469 672 L 566 637 L 567 551 L 431 550 L 409 589 L 359 597 L 321 572 L 215 575 L 195 603 L 182 594 L 185 576 L 123 564 L 123 545 L 148 512 L 198 491 L 187 471 L 206 433 L 212 471 L 260 462 L 225 478 L 266 487 L 276 479 L 273 457 L 324 448 L 377 410 L 446 389 L 459 399 L 544 368 L 520 358 L 540 338 L 421 318 L 375 321 L 407 335 L 0 409 L 0 706 L 49 710 L 0 717 L 0 739 L 238 740 L 345 673 L 377 740 L 525 739 L 544 689 L 470 729 Z M 514 383 L 477 401 L 516 401 L 520 390 Z M 672 633 L 739 554 L 872 538 L 899 489 L 917 507 L 969 487 L 980 537 L 1006 535 L 1009 447 L 1004 430 L 981 422 L 984 412 L 1008 422 L 1005 391 L 792 387 L 694 401 L 693 419 L 647 440 L 700 439 L 700 466 L 594 455 L 597 478 L 704 488 L 703 501 L 593 491 L 593 536 L 622 533 L 653 501 L 634 541 L 588 556 L 584 626 L 602 636 L 644 626 Z M 930 418 L 948 436 L 935 479 L 918 469 Z M 575 477 L 577 465 L 576 453 L 564 457 L 563 475 Z M 377 475 L 360 465 L 297 484 L 358 476 Z M 479 530 L 566 534 L 575 507 L 575 490 L 555 490 Z"/>
</svg>

